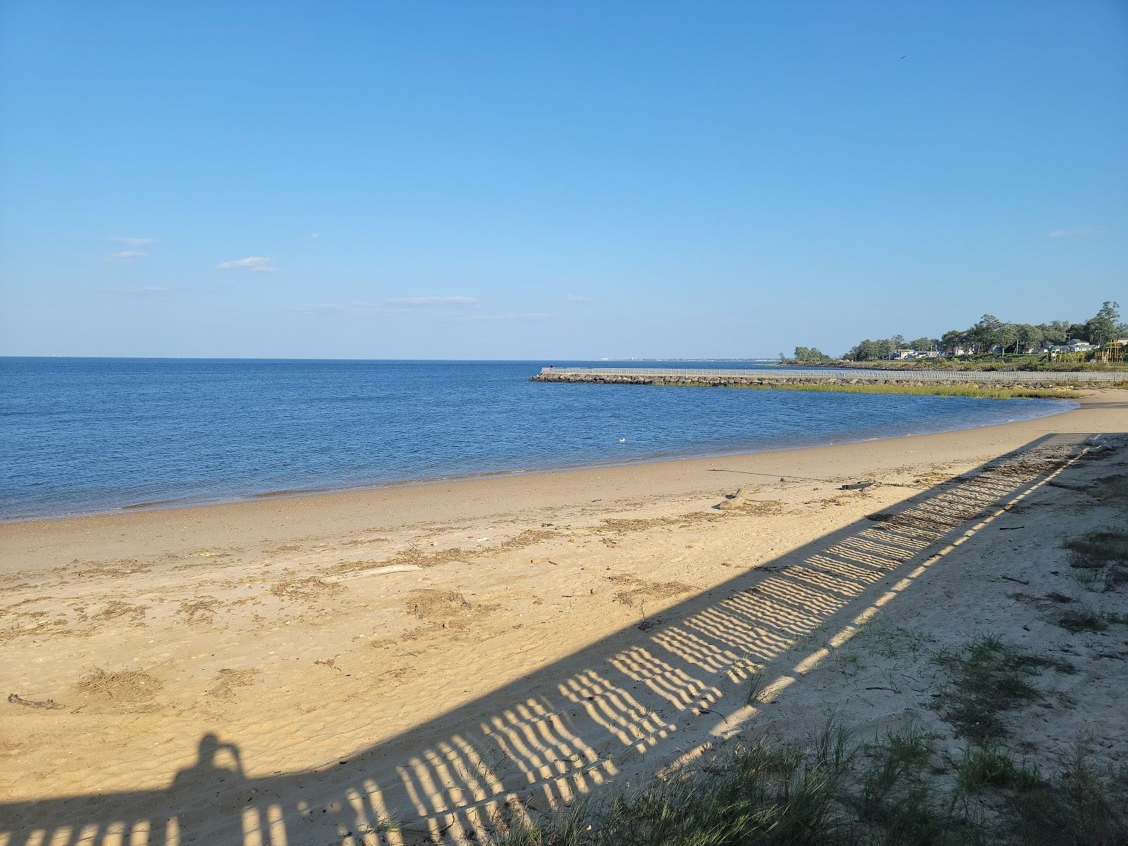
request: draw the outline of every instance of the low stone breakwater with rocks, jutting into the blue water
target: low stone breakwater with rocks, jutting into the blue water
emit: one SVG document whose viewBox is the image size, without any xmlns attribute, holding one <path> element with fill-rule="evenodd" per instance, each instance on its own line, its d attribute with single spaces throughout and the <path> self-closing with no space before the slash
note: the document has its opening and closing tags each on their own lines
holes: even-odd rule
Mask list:
<svg viewBox="0 0 1128 846">
<path fill-rule="evenodd" d="M 979 388 L 998 388 L 1003 386 L 1022 386 L 1029 388 L 1060 388 L 1069 385 L 1081 385 L 1082 381 L 1063 379 L 1060 374 L 1052 374 L 1049 378 L 1039 378 L 1036 372 L 1016 372 L 1013 378 L 1002 379 L 1001 374 L 993 373 L 989 379 L 978 379 L 972 373 L 961 373 L 959 376 L 942 376 L 928 373 L 927 379 L 919 377 L 907 377 L 905 372 L 897 371 L 874 371 L 861 376 L 822 376 L 811 373 L 810 376 L 775 376 L 770 372 L 764 374 L 686 374 L 662 373 L 587 373 L 567 370 L 545 370 L 531 377 L 535 382 L 588 382 L 597 385 L 676 385 L 682 387 L 717 387 L 717 388 L 740 388 L 749 386 L 768 385 L 964 385 Z M 1012 376 L 1012 374 L 1008 374 Z M 1091 381 L 1084 385 L 1091 386 Z"/>
</svg>

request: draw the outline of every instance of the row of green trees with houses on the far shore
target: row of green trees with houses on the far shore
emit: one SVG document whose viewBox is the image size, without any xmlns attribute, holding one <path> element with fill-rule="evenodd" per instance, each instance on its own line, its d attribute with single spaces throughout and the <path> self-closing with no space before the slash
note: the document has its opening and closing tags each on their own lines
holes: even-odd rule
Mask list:
<svg viewBox="0 0 1128 846">
<path fill-rule="evenodd" d="M 935 337 L 918 337 L 906 341 L 904 335 L 865 338 L 836 359 L 817 346 L 796 346 L 794 361 L 879 361 L 889 359 L 898 350 L 917 352 L 935 350 L 945 355 L 981 355 L 998 347 L 1006 353 L 1024 353 L 1040 350 L 1046 344 L 1067 344 L 1070 341 L 1086 341 L 1094 346 L 1103 346 L 1110 341 L 1128 337 L 1128 324 L 1120 321 L 1119 303 L 1105 300 L 1100 310 L 1085 323 L 1051 320 L 1050 323 L 1006 323 L 994 315 L 984 315 L 967 329 L 950 329 Z M 781 359 L 786 356 L 779 354 Z"/>
</svg>

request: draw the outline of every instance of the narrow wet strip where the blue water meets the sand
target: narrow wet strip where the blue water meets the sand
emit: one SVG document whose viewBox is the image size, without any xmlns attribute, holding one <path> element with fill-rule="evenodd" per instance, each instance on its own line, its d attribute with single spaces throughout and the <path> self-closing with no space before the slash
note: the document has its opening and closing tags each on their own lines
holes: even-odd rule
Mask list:
<svg viewBox="0 0 1128 846">
<path fill-rule="evenodd" d="M 685 451 L 678 455 L 656 453 L 652 456 L 640 456 L 636 458 L 627 458 L 614 461 L 584 462 L 584 464 L 563 465 L 563 466 L 527 467 L 527 468 L 519 468 L 511 470 L 510 469 L 482 470 L 477 473 L 453 474 L 449 476 L 393 479 L 389 482 L 374 482 L 374 483 L 364 483 L 359 485 L 321 486 L 321 487 L 308 487 L 308 488 L 283 488 L 277 491 L 261 491 L 239 496 L 220 496 L 214 499 L 208 497 L 208 499 L 187 499 L 187 500 L 153 500 L 150 502 L 129 503 L 125 505 L 118 505 L 111 509 L 91 509 L 88 511 L 55 512 L 47 514 L 33 514 L 27 517 L 0 517 L 0 528 L 5 526 L 29 523 L 29 522 L 49 522 L 54 520 L 79 520 L 86 518 L 148 513 L 153 511 L 177 511 L 183 509 L 201 509 L 201 508 L 213 508 L 221 505 L 238 505 L 243 503 L 252 503 L 264 500 L 289 500 L 289 499 L 306 499 L 311 496 L 360 494 L 369 492 L 379 492 L 384 490 L 396 490 L 400 487 L 442 485 L 452 482 L 474 482 L 478 479 L 491 479 L 491 478 L 514 477 L 514 476 L 523 477 L 534 475 L 554 475 L 554 474 L 573 473 L 581 470 L 599 470 L 599 469 L 611 469 L 616 467 L 634 467 L 640 465 L 661 464 L 666 461 L 691 461 L 698 459 L 730 458 L 737 456 L 754 456 L 754 455 L 764 455 L 772 452 L 787 452 L 791 450 L 801 450 L 801 449 L 817 449 L 819 447 L 831 447 L 831 446 L 849 444 L 849 443 L 893 441 L 904 438 L 916 438 L 928 434 L 943 434 L 945 432 L 963 432 L 976 429 L 1005 426 L 1005 425 L 1011 425 L 1013 423 L 1021 423 L 1024 421 L 1041 420 L 1043 417 L 1052 417 L 1061 414 L 1068 414 L 1069 412 L 1081 408 L 1087 396 L 1089 395 L 1083 395 L 1082 397 L 1078 398 L 1052 399 L 1050 402 L 1061 403 L 1068 407 L 1047 409 L 1043 413 L 1031 414 L 1028 416 L 1022 416 L 1015 420 L 1008 420 L 998 423 L 971 423 L 968 425 L 958 425 L 944 429 L 929 429 L 919 432 L 909 432 L 905 434 L 878 435 L 874 438 L 848 438 L 844 440 L 826 441 L 823 443 L 801 443 L 801 444 L 778 446 L 778 447 L 773 446 L 773 447 L 766 447 L 764 449 L 747 449 L 737 447 L 732 450 L 723 450 L 723 451 L 707 451 L 707 452 Z M 997 402 L 997 400 L 993 399 L 990 402 Z"/>
</svg>

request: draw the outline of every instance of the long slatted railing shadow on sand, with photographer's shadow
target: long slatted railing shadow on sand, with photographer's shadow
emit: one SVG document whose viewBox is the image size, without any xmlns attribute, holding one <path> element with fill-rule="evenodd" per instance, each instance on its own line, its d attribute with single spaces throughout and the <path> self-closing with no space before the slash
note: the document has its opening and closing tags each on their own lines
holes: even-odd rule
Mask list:
<svg viewBox="0 0 1128 846">
<path fill-rule="evenodd" d="M 1079 434 L 1036 440 L 334 766 L 249 778 L 238 749 L 208 734 L 167 790 L 0 802 L 0 846 L 481 840 L 521 808 L 556 808 L 664 763 L 652 754 L 664 738 L 689 751 L 755 725 L 752 664 L 767 695 L 782 695 L 1085 451 Z M 398 830 L 385 830 L 389 819 Z"/>
</svg>

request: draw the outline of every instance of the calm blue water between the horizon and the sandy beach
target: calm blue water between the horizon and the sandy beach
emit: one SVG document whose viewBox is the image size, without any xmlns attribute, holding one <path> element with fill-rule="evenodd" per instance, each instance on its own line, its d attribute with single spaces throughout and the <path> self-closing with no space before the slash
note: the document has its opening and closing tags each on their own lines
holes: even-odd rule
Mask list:
<svg viewBox="0 0 1128 846">
<path fill-rule="evenodd" d="M 1064 405 L 528 381 L 543 363 L 0 359 L 0 519 L 779 449 Z"/>
</svg>

